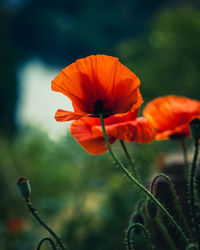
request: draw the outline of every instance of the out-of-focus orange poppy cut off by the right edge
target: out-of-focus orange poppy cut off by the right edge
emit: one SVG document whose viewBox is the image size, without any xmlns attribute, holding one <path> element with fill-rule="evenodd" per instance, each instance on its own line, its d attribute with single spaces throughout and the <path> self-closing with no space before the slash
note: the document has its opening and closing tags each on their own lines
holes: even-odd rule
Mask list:
<svg viewBox="0 0 200 250">
<path fill-rule="evenodd" d="M 200 115 L 200 102 L 181 96 L 164 96 L 149 102 L 143 115 L 157 130 L 156 139 L 181 139 L 190 134 L 189 122 Z"/>
</svg>

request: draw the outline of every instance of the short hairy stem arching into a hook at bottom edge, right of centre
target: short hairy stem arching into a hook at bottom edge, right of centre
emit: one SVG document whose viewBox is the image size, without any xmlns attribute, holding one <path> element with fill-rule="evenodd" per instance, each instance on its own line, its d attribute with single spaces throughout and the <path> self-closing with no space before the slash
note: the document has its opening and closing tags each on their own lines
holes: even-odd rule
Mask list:
<svg viewBox="0 0 200 250">
<path fill-rule="evenodd" d="M 127 230 L 127 233 L 126 233 L 126 238 L 127 238 L 127 243 L 128 243 L 128 250 L 131 250 L 132 249 L 132 246 L 131 246 L 131 231 L 132 229 L 134 228 L 140 228 L 142 229 L 143 233 L 144 233 L 144 237 L 145 237 L 145 240 L 146 240 L 146 244 L 147 244 L 147 247 L 148 249 L 150 250 L 153 250 L 153 246 L 152 246 L 152 243 L 151 243 L 151 239 L 149 237 L 149 234 L 147 233 L 147 231 L 145 230 L 144 226 L 140 223 L 134 223 L 132 225 L 130 225 L 128 227 L 128 230 Z"/>
</svg>

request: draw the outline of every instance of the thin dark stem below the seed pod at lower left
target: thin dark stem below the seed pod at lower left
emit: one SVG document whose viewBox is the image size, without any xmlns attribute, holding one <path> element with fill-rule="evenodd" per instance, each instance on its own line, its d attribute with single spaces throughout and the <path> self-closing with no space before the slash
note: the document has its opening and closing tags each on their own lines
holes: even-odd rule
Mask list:
<svg viewBox="0 0 200 250">
<path fill-rule="evenodd" d="M 40 225 L 42 225 L 42 226 L 43 226 L 43 227 L 44 227 L 44 228 L 54 237 L 54 239 L 57 241 L 57 243 L 58 243 L 58 245 L 60 246 L 60 248 L 61 248 L 62 250 L 65 250 L 65 248 L 64 248 L 62 242 L 60 241 L 60 239 L 58 238 L 58 236 L 54 233 L 54 231 L 53 231 L 49 226 L 47 226 L 46 223 L 44 223 L 44 222 L 42 221 L 42 219 L 41 219 L 41 218 L 39 217 L 39 215 L 37 214 L 36 209 L 32 207 L 32 203 L 31 203 L 31 201 L 30 201 L 29 198 L 26 199 L 26 205 L 27 205 L 29 211 L 30 211 L 30 212 L 32 213 L 32 215 L 35 217 L 35 219 L 40 223 Z"/>
</svg>

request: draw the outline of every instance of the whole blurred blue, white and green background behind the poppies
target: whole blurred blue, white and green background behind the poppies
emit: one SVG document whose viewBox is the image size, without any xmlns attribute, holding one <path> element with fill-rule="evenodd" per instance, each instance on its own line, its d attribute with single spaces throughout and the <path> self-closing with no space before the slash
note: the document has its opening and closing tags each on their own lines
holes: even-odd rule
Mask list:
<svg viewBox="0 0 200 250">
<path fill-rule="evenodd" d="M 54 120 L 56 109 L 71 103 L 51 91 L 51 80 L 91 54 L 117 56 L 136 73 L 144 105 L 168 94 L 199 99 L 200 2 L 0 1 L 1 250 L 34 249 L 46 235 L 16 188 L 21 176 L 67 249 L 125 248 L 139 194 L 107 153 L 88 155 L 69 136 L 69 123 Z M 158 155 L 179 146 L 128 145 L 146 185 Z"/>
</svg>

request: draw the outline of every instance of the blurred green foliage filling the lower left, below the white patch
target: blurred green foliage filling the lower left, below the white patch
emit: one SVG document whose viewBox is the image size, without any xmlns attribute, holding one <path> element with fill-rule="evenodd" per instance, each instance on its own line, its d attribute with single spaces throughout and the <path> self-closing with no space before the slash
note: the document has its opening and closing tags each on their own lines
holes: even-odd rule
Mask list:
<svg viewBox="0 0 200 250">
<path fill-rule="evenodd" d="M 91 156 L 69 136 L 55 142 L 34 129 L 23 130 L 14 143 L 1 138 L 0 144 L 2 250 L 33 249 L 46 235 L 18 192 L 21 176 L 31 183 L 34 207 L 69 249 L 123 249 L 124 230 L 140 194 L 107 153 Z M 119 146 L 114 150 L 119 152 Z M 128 146 L 140 174 L 147 177 L 158 144 Z M 119 156 L 127 165 L 124 155 Z M 22 225 L 15 223 L 16 218 Z"/>
</svg>

